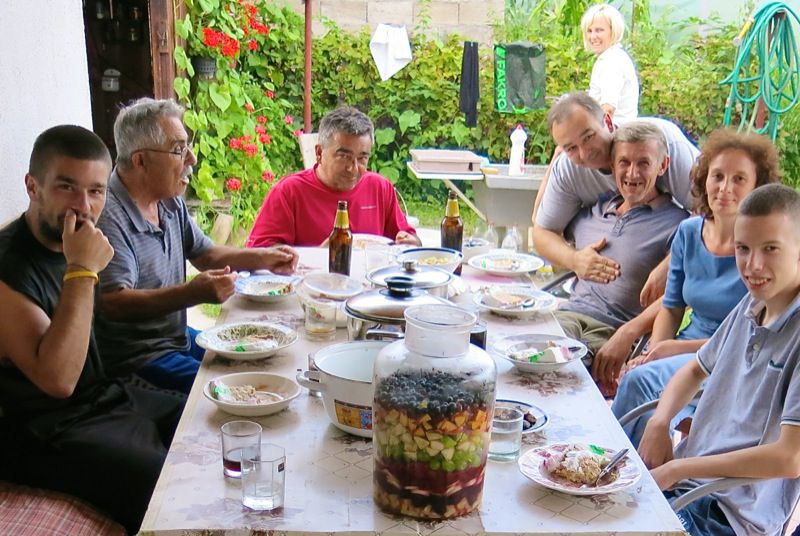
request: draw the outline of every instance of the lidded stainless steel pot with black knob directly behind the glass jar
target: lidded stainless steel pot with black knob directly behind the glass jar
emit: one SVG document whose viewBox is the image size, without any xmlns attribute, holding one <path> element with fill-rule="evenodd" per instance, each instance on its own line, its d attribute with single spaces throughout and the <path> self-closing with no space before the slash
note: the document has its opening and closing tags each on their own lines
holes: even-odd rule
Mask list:
<svg viewBox="0 0 800 536">
<path fill-rule="evenodd" d="M 403 277 L 387 277 L 388 288 L 362 292 L 345 302 L 348 340 L 394 340 L 403 337 L 403 313 L 412 305 L 450 304 L 444 298 L 413 288 Z"/>
</svg>

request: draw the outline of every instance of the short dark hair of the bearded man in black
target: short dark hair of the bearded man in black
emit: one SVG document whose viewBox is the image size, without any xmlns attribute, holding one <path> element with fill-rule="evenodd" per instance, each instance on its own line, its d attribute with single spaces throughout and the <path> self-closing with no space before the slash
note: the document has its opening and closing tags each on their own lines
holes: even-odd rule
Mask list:
<svg viewBox="0 0 800 536">
<path fill-rule="evenodd" d="M 111 167 L 111 155 L 100 136 L 78 125 L 58 125 L 39 134 L 33 142 L 28 173 L 41 183 L 47 175 L 50 161 L 57 156 L 102 160 Z"/>
</svg>

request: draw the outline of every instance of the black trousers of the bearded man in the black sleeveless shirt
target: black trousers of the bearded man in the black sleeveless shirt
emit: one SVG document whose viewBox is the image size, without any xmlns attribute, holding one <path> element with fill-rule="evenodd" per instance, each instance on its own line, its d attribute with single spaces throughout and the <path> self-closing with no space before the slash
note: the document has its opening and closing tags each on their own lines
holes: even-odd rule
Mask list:
<svg viewBox="0 0 800 536">
<path fill-rule="evenodd" d="M 84 499 L 135 534 L 185 398 L 126 386 L 128 400 L 80 419 L 47 442 L 4 423 L 0 478 Z"/>
</svg>

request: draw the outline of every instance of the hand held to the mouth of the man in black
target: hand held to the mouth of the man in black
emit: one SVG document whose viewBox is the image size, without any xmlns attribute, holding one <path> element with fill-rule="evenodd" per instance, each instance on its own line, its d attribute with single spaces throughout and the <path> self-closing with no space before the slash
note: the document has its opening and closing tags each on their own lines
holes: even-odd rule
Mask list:
<svg viewBox="0 0 800 536">
<path fill-rule="evenodd" d="M 97 273 L 108 266 L 114 257 L 114 248 L 103 232 L 88 219 L 78 225 L 78 216 L 72 210 L 68 210 L 64 216 L 61 240 L 67 265 L 80 266 Z"/>
</svg>

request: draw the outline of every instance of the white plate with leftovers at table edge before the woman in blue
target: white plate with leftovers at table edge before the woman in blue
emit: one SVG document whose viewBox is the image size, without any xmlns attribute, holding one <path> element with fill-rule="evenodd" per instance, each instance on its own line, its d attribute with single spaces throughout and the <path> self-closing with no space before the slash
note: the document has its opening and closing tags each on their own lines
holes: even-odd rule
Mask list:
<svg viewBox="0 0 800 536">
<path fill-rule="evenodd" d="M 523 372 L 557 370 L 589 352 L 578 340 L 535 333 L 504 337 L 494 343 L 491 350 Z"/>
</svg>

